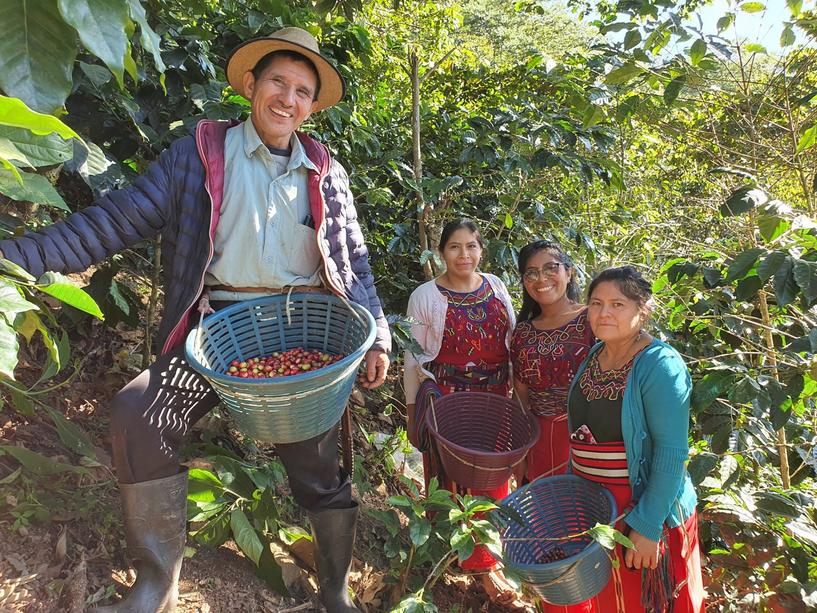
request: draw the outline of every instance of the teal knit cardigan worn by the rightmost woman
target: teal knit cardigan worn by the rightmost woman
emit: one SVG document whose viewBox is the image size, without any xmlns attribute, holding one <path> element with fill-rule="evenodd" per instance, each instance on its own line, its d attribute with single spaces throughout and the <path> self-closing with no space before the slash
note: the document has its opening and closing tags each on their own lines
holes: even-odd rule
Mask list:
<svg viewBox="0 0 817 613">
<path fill-rule="evenodd" d="M 579 366 L 571 394 L 590 357 L 603 345 L 597 343 Z M 661 539 L 665 524 L 672 528 L 688 519 L 697 501 L 686 471 L 691 392 L 683 358 L 657 338 L 636 356 L 624 387 L 621 426 L 632 497 L 638 499 L 624 521 L 654 541 Z M 568 427 L 574 432 L 569 415 Z"/>
</svg>

